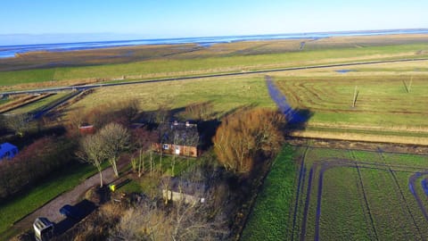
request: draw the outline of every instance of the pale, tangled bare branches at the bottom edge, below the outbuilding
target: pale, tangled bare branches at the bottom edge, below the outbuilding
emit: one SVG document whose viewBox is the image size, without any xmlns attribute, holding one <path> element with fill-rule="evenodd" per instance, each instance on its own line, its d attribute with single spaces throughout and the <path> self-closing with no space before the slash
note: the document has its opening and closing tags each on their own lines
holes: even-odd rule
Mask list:
<svg viewBox="0 0 428 241">
<path fill-rule="evenodd" d="M 210 201 L 188 203 L 181 199 L 162 206 L 144 201 L 122 216 L 111 238 L 224 240 L 229 235 L 227 216 L 225 212 L 213 210 L 217 207 L 212 204 Z"/>
</svg>

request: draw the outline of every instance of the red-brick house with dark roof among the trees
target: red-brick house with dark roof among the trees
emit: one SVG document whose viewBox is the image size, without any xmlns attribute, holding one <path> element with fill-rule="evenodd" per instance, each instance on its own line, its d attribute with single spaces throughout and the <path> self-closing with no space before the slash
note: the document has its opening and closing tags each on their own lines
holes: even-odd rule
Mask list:
<svg viewBox="0 0 428 241">
<path fill-rule="evenodd" d="M 162 123 L 159 129 L 159 142 L 153 144 L 154 150 L 164 154 L 198 156 L 199 133 L 196 124 L 174 121 Z"/>
</svg>

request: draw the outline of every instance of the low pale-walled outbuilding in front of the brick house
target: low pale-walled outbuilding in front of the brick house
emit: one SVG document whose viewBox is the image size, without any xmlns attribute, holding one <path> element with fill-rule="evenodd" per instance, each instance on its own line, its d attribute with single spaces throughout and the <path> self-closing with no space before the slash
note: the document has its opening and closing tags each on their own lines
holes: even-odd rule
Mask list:
<svg viewBox="0 0 428 241">
<path fill-rule="evenodd" d="M 208 187 L 201 182 L 192 182 L 178 178 L 165 178 L 161 181 L 163 199 L 184 201 L 185 204 L 204 203 Z"/>
</svg>

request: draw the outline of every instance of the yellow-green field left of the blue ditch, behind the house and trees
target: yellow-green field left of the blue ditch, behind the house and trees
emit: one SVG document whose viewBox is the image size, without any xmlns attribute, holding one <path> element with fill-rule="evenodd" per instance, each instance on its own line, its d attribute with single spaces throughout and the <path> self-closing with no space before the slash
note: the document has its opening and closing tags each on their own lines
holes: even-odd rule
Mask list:
<svg viewBox="0 0 428 241">
<path fill-rule="evenodd" d="M 228 77 L 194 79 L 136 85 L 98 88 L 70 109 L 90 109 L 115 100 L 136 99 L 143 112 L 155 111 L 160 105 L 183 112 L 187 104 L 211 102 L 212 117 L 242 106 L 275 107 L 268 96 L 263 77 Z"/>
</svg>

